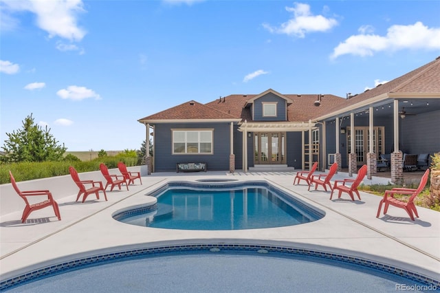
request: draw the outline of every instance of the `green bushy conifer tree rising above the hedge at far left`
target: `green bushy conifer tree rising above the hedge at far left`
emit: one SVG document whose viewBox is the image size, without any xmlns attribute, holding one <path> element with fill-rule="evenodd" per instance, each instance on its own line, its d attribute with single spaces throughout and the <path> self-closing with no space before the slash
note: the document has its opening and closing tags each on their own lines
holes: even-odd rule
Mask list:
<svg viewBox="0 0 440 293">
<path fill-rule="evenodd" d="M 42 129 L 34 123 L 32 113 L 23 122 L 23 129 L 6 133 L 9 140 L 2 146 L 7 155 L 1 156 L 3 162 L 44 162 L 61 161 L 67 148 L 58 145 L 50 129 Z"/>
</svg>

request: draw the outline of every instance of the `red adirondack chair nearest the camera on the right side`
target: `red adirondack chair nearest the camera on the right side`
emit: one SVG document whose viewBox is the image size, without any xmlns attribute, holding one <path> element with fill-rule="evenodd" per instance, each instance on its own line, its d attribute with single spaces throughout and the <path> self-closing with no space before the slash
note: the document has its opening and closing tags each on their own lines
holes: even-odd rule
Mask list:
<svg viewBox="0 0 440 293">
<path fill-rule="evenodd" d="M 384 198 L 380 200 L 379 208 L 377 208 L 377 215 L 378 218 L 380 215 L 380 210 L 382 208 L 382 204 L 385 204 L 384 206 L 384 215 L 388 211 L 388 206 L 391 204 L 391 206 L 395 206 L 397 208 L 403 208 L 406 210 L 406 213 L 410 216 L 412 221 L 414 221 L 414 215 L 416 217 L 419 217 L 419 214 L 417 213 L 417 209 L 415 208 L 414 199 L 423 191 L 423 188 L 426 186 L 426 182 L 428 182 L 428 175 L 429 175 L 429 169 L 426 169 L 425 173 L 421 177 L 419 187 L 417 189 L 413 188 L 393 188 L 391 191 L 385 191 Z M 394 197 L 395 194 L 400 195 L 410 195 L 410 198 L 408 199 L 408 202 L 404 202 L 400 199 L 397 199 Z"/>
</svg>

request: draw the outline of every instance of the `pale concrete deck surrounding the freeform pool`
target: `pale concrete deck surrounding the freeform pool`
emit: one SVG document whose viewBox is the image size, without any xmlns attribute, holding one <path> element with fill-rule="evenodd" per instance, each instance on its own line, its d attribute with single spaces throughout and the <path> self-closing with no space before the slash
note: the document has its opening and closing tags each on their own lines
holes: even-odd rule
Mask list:
<svg viewBox="0 0 440 293">
<path fill-rule="evenodd" d="M 341 199 L 330 192 L 307 191 L 304 182 L 294 186 L 296 172 L 280 173 L 153 173 L 142 177 L 142 185 L 126 191 L 108 191 L 102 197 L 88 197 L 84 204 L 75 202 L 76 194 L 56 199 L 61 221 L 51 208 L 32 213 L 25 222 L 21 211 L 0 217 L 1 280 L 36 270 L 46 265 L 80 257 L 128 248 L 153 248 L 170 244 L 258 243 L 363 257 L 397 268 L 418 272 L 440 280 L 440 213 L 417 208 L 419 218 L 411 221 L 403 209 L 390 206 L 388 215 L 376 218 L 381 197 L 361 192 L 362 200 L 352 202 L 347 194 Z M 347 177 L 338 173 L 333 180 Z M 254 230 L 167 230 L 132 226 L 115 221 L 112 215 L 130 206 L 151 204 L 148 193 L 171 181 L 234 179 L 239 182 L 265 180 L 294 194 L 307 204 L 325 212 L 318 221 L 298 226 Z M 381 181 L 382 180 L 382 181 Z M 388 183 L 373 177 L 365 184 Z"/>
</svg>

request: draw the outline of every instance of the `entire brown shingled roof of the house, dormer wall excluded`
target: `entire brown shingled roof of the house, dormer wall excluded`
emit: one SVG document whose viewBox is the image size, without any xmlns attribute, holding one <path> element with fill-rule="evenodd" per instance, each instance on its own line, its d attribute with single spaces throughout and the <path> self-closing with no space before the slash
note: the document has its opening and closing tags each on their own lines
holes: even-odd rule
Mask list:
<svg viewBox="0 0 440 293">
<path fill-rule="evenodd" d="M 307 122 L 309 120 L 325 120 L 338 116 L 344 111 L 365 107 L 374 102 L 392 100 L 394 98 L 440 98 L 440 57 L 423 65 L 412 72 L 395 78 L 384 85 L 375 87 L 362 94 L 346 99 L 331 94 L 323 95 L 320 107 L 314 106 L 318 94 L 280 94 L 273 89 L 267 89 L 261 94 L 234 94 L 205 105 L 195 102 L 185 102 L 176 107 L 166 109 L 151 116 L 138 120 L 139 122 L 172 122 L 189 120 L 219 120 L 252 122 L 251 110 L 245 107 L 257 98 L 268 93 L 276 94 L 287 100 L 287 122 Z"/>
</svg>

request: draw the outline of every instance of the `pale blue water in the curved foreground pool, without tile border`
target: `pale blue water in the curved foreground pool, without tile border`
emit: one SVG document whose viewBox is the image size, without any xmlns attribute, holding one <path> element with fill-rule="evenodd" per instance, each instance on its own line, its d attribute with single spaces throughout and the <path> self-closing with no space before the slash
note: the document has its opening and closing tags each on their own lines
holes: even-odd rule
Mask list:
<svg viewBox="0 0 440 293">
<path fill-rule="evenodd" d="M 389 268 L 389 267 L 388 267 Z M 384 270 L 267 250 L 189 250 L 67 270 L 10 292 L 412 292 L 437 290 Z M 408 289 L 409 288 L 409 289 Z"/>
</svg>

